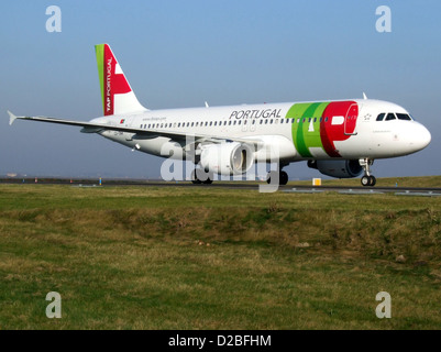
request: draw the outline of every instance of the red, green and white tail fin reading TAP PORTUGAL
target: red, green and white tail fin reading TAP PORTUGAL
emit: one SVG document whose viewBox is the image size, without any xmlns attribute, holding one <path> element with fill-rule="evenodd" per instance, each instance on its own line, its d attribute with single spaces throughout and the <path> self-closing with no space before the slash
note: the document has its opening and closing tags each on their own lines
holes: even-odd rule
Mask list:
<svg viewBox="0 0 441 352">
<path fill-rule="evenodd" d="M 104 116 L 145 111 L 108 44 L 95 46 Z"/>
</svg>

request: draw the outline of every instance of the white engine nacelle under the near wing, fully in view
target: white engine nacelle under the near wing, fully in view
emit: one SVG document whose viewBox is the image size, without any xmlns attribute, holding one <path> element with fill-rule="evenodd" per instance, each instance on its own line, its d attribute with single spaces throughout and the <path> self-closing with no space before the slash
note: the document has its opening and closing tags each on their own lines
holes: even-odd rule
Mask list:
<svg viewBox="0 0 441 352">
<path fill-rule="evenodd" d="M 246 173 L 254 163 L 254 152 L 239 142 L 203 145 L 200 165 L 206 172 L 220 175 Z"/>
</svg>

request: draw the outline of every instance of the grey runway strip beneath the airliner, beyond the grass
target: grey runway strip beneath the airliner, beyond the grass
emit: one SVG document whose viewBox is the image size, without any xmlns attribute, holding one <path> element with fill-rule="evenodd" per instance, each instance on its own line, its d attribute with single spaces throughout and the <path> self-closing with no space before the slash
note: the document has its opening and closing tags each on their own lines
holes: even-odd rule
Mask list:
<svg viewBox="0 0 441 352">
<path fill-rule="evenodd" d="M 82 179 L 73 180 L 69 179 L 56 179 L 56 178 L 38 178 L 35 182 L 32 179 L 0 179 L 0 184 L 25 184 L 25 185 L 70 185 L 73 187 L 117 187 L 117 186 L 136 186 L 136 187 L 192 187 L 192 188 L 227 188 L 227 189 L 255 189 L 260 190 L 260 186 L 268 186 L 266 183 L 250 183 L 250 182 L 214 182 L 211 185 L 195 185 L 191 182 L 159 182 L 159 180 L 121 180 L 121 179 L 106 179 L 100 182 L 99 179 Z M 403 196 L 441 196 L 441 187 L 429 188 L 429 187 L 348 187 L 348 186 L 308 186 L 308 185 L 296 185 L 289 184 L 286 186 L 279 186 L 277 191 L 286 193 L 306 193 L 315 194 L 322 191 L 338 191 L 341 194 L 349 195 L 375 195 L 382 193 L 395 193 Z"/>
</svg>

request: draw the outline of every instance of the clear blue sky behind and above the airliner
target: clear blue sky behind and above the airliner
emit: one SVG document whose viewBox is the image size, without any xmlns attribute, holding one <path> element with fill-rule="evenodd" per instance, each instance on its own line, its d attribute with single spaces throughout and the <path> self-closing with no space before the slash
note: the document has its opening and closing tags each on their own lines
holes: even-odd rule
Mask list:
<svg viewBox="0 0 441 352">
<path fill-rule="evenodd" d="M 48 6 L 62 32 L 46 32 Z M 392 10 L 378 33 L 375 10 Z M 396 102 L 432 133 L 415 155 L 376 161 L 377 177 L 441 175 L 441 2 L 3 1 L 0 175 L 158 177 L 162 160 L 79 129 L 16 114 L 101 116 L 93 45 L 109 43 L 150 109 L 370 98 Z M 290 177 L 319 176 L 305 163 Z"/>
</svg>

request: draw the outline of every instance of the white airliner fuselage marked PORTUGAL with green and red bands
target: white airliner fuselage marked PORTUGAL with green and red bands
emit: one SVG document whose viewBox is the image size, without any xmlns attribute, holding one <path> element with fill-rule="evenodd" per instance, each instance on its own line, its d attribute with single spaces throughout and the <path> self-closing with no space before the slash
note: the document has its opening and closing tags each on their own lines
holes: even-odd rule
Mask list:
<svg viewBox="0 0 441 352">
<path fill-rule="evenodd" d="M 285 163 L 302 160 L 396 157 L 415 153 L 429 144 L 429 131 L 410 118 L 377 121 L 378 114 L 382 113 L 409 116 L 404 108 L 371 99 L 354 99 L 351 102 L 357 108 L 357 113 L 353 117 L 350 112 L 333 116 L 330 112 L 329 117 L 324 117 L 317 114 L 317 111 L 316 116 L 313 112 L 308 116 L 307 111 L 296 116 L 294 111 L 294 117 L 290 118 L 289 111 L 293 111 L 296 105 L 319 105 L 291 102 L 153 110 L 102 117 L 91 122 L 176 133 L 177 138 L 120 131 L 100 132 L 107 139 L 141 152 L 179 160 L 186 158 L 185 147 L 191 144 L 195 135 L 260 140 L 265 148 L 256 148 L 256 162 L 268 162 L 268 150 L 277 150 L 280 161 Z M 324 122 L 324 119 L 329 121 Z M 330 136 L 326 135 L 327 129 Z M 186 135 L 186 139 L 183 135 Z"/>
</svg>

